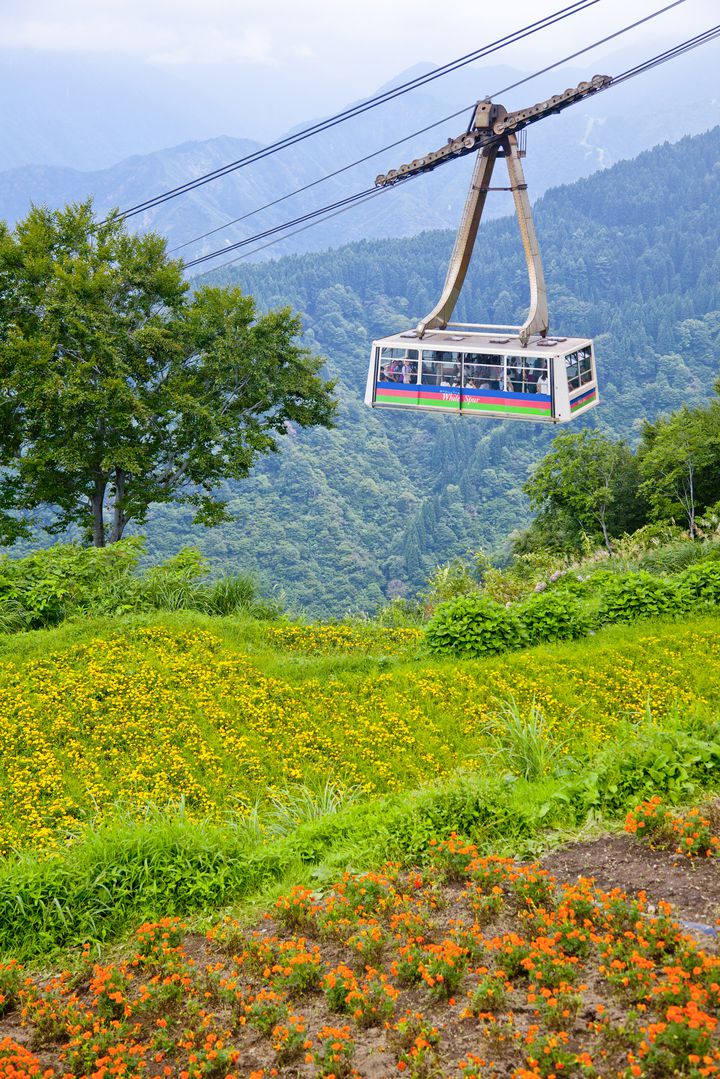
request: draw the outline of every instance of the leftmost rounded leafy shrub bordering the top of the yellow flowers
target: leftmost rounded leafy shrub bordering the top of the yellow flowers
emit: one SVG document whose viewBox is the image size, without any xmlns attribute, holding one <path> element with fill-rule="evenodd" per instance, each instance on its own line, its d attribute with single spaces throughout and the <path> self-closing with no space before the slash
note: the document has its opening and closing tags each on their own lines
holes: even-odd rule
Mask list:
<svg viewBox="0 0 720 1079">
<path fill-rule="evenodd" d="M 524 643 L 517 615 L 484 596 L 461 596 L 441 603 L 425 631 L 431 652 L 485 656 Z"/>
</svg>

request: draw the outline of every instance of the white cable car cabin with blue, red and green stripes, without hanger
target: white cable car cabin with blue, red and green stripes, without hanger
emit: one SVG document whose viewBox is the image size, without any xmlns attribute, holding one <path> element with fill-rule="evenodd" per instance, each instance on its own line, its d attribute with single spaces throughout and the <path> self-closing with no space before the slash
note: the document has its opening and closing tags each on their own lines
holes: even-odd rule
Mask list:
<svg viewBox="0 0 720 1079">
<path fill-rule="evenodd" d="M 365 404 L 420 412 L 568 423 L 598 404 L 593 342 L 429 330 L 372 344 Z"/>
</svg>

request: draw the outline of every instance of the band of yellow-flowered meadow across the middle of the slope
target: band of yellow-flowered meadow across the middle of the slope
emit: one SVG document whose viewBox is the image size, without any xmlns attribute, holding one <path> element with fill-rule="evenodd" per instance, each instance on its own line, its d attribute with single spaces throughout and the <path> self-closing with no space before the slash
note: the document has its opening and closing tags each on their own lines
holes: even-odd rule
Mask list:
<svg viewBox="0 0 720 1079">
<path fill-rule="evenodd" d="M 628 723 L 717 714 L 719 631 L 710 616 L 640 624 L 468 661 L 419 658 L 412 630 L 353 643 L 343 627 L 190 614 L 8 638 L 2 852 L 149 805 L 221 821 L 297 783 L 364 797 L 489 773 L 508 701 L 534 702 L 576 761 Z"/>
</svg>

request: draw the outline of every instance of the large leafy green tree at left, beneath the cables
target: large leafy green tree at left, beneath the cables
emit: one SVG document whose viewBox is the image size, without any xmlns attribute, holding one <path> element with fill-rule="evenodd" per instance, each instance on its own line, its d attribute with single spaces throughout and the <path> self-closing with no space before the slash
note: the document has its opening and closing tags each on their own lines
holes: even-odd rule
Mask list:
<svg viewBox="0 0 720 1079">
<path fill-rule="evenodd" d="M 0 224 L 0 538 L 42 505 L 51 531 L 79 523 L 96 546 L 153 502 L 222 520 L 221 480 L 288 426 L 332 423 L 299 332 L 239 288 L 191 296 L 160 236 L 98 226 L 90 203 Z"/>
</svg>

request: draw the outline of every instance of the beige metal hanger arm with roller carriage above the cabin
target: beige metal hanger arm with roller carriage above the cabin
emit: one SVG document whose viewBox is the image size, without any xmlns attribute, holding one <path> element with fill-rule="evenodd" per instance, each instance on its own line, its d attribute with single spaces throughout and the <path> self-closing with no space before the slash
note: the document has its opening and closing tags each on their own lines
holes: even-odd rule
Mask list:
<svg viewBox="0 0 720 1079">
<path fill-rule="evenodd" d="M 470 126 L 466 132 L 454 139 L 448 139 L 439 150 L 416 158 L 415 161 L 399 168 L 391 169 L 376 179 L 376 187 L 386 188 L 408 176 L 429 173 L 438 165 L 467 153 L 477 153 L 473 178 L 467 193 L 467 200 L 460 220 L 454 248 L 450 257 L 447 277 L 440 299 L 429 315 L 418 323 L 417 336 L 423 338 L 429 329 L 453 325 L 450 317 L 454 311 L 458 297 L 462 289 L 467 268 L 475 246 L 477 230 L 485 209 L 488 191 L 511 190 L 515 202 L 515 214 L 522 240 L 522 249 L 528 265 L 530 281 L 530 311 L 524 325 L 517 330 L 524 347 L 532 334 L 546 337 L 549 329 L 547 312 L 547 291 L 543 274 L 540 246 L 532 219 L 532 209 L 528 197 L 528 186 L 525 181 L 520 158 L 525 155 L 518 146 L 517 134 L 529 124 L 544 117 L 561 112 L 574 105 L 581 98 L 589 97 L 598 91 L 606 90 L 612 83 L 610 76 L 596 74 L 589 82 L 581 82 L 578 86 L 566 90 L 545 101 L 508 112 L 502 105 L 493 104 L 489 98 L 478 101 L 473 110 Z M 510 189 L 491 188 L 490 180 L 498 158 L 504 158 L 510 178 Z M 457 325 L 457 324 L 454 324 Z M 484 326 L 473 324 L 477 329 L 512 329 L 513 327 Z"/>
</svg>

